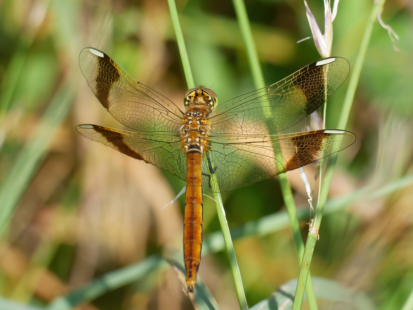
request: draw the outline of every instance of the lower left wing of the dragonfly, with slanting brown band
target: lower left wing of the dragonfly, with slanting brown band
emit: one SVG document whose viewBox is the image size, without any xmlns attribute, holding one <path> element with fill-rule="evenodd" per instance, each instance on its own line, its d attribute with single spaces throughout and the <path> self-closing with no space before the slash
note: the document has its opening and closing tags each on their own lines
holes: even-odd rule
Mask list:
<svg viewBox="0 0 413 310">
<path fill-rule="evenodd" d="M 179 136 L 134 133 L 98 125 L 78 125 L 79 133 L 186 180 L 186 157 Z"/>
</svg>

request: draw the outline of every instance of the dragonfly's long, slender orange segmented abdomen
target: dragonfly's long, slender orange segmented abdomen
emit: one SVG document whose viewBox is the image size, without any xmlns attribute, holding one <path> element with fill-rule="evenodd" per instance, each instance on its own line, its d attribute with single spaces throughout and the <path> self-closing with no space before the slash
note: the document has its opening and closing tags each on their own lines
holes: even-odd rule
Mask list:
<svg viewBox="0 0 413 310">
<path fill-rule="evenodd" d="M 189 151 L 186 156 L 187 177 L 185 217 L 183 222 L 183 253 L 188 292 L 193 292 L 201 261 L 202 246 L 202 155 Z"/>
</svg>

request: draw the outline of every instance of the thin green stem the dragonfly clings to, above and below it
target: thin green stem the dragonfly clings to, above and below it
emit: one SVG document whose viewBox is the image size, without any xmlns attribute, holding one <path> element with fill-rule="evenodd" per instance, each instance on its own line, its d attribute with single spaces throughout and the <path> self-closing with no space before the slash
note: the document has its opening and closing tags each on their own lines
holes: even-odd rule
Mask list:
<svg viewBox="0 0 413 310">
<path fill-rule="evenodd" d="M 168 0 L 169 10 L 171 12 L 171 18 L 173 23 L 173 28 L 175 29 L 176 33 L 176 41 L 178 43 L 180 57 L 182 60 L 182 65 L 184 68 L 186 83 L 188 88 L 191 88 L 194 85 L 194 79 L 192 77 L 191 67 L 189 65 L 188 54 L 185 48 L 185 42 L 183 40 L 182 30 L 180 28 L 179 19 L 178 19 L 178 12 L 176 11 L 175 0 Z M 216 184 L 218 187 L 218 182 L 216 180 L 216 175 L 210 175 L 211 182 Z M 221 230 L 224 235 L 225 240 L 225 247 L 228 253 L 228 259 L 230 261 L 231 270 L 233 272 L 234 282 L 235 282 L 235 290 L 237 291 L 238 296 L 238 303 L 240 304 L 241 310 L 247 310 L 247 299 L 245 298 L 244 286 L 242 286 L 242 279 L 240 268 L 238 267 L 237 258 L 235 256 L 234 245 L 231 239 L 230 229 L 228 227 L 227 219 L 225 218 L 225 211 L 223 209 L 221 193 L 216 192 L 214 193 L 214 199 L 216 204 L 216 210 L 218 213 L 219 223 L 221 225 Z"/>
</svg>

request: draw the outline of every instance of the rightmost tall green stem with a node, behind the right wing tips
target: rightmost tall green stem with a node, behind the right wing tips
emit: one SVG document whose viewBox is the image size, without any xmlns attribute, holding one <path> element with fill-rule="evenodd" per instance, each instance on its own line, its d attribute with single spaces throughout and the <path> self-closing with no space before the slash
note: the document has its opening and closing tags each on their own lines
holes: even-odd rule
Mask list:
<svg viewBox="0 0 413 310">
<path fill-rule="evenodd" d="M 349 87 L 347 88 L 346 96 L 344 98 L 344 103 L 342 106 L 342 111 L 339 117 L 337 128 L 346 128 L 347 122 L 349 120 L 351 106 L 353 104 L 354 95 L 356 93 L 358 80 L 360 78 L 361 69 L 363 67 L 363 62 L 366 57 L 366 52 L 368 45 L 370 43 L 371 33 L 373 31 L 373 25 L 377 18 L 377 13 L 382 9 L 385 0 L 375 1 L 373 8 L 368 19 L 366 29 L 364 31 L 363 39 L 361 41 L 360 50 L 357 55 L 356 63 L 354 64 L 353 72 L 349 80 Z M 313 256 L 314 248 L 318 239 L 318 230 L 320 229 L 321 219 L 323 217 L 323 209 L 325 202 L 327 200 L 328 190 L 330 188 L 332 174 L 335 168 L 335 163 L 337 162 L 337 153 L 330 156 L 327 161 L 325 168 L 324 178 L 321 185 L 320 196 L 318 197 L 317 206 L 315 210 L 314 220 L 312 229 L 307 236 L 307 242 L 304 250 L 304 257 L 301 263 L 300 274 L 298 278 L 297 289 L 294 297 L 293 310 L 301 309 L 303 298 L 304 298 L 304 285 L 307 281 L 309 275 L 311 258 Z"/>
</svg>

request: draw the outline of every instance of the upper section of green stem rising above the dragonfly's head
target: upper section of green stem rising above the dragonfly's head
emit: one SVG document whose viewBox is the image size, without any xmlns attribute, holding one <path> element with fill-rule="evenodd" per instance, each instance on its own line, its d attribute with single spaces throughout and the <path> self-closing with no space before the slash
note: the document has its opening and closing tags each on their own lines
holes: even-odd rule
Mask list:
<svg viewBox="0 0 413 310">
<path fill-rule="evenodd" d="M 178 43 L 183 72 L 185 74 L 186 85 L 188 86 L 188 89 L 190 89 L 192 87 L 195 87 L 195 83 L 194 78 L 192 77 L 191 66 L 189 64 L 188 54 L 185 48 L 185 41 L 183 40 L 182 29 L 179 24 L 178 11 L 176 10 L 175 0 L 168 0 L 168 5 L 169 12 L 171 12 L 173 29 L 175 30 L 176 42 Z"/>
</svg>

